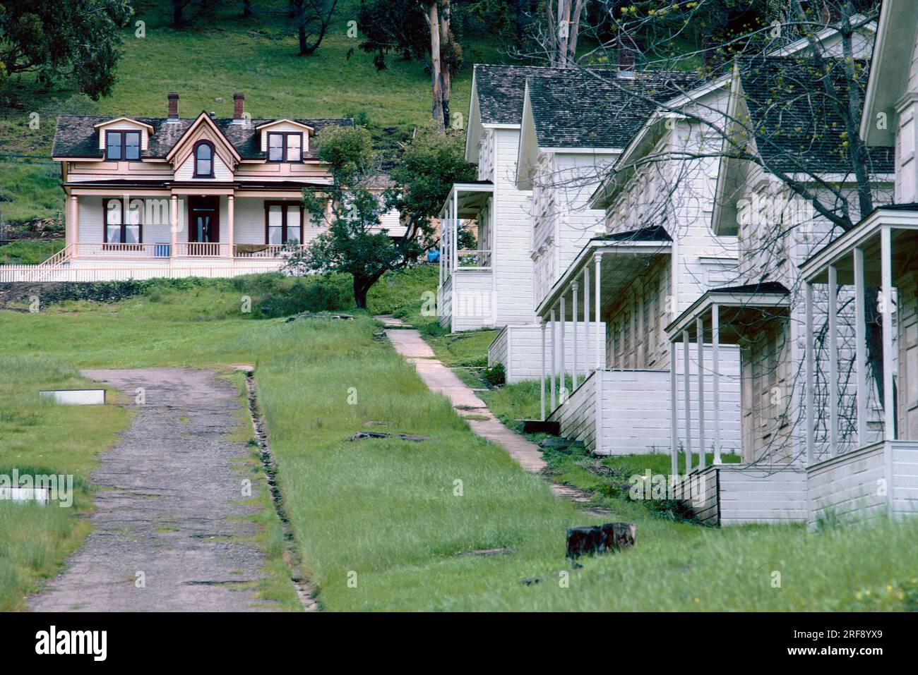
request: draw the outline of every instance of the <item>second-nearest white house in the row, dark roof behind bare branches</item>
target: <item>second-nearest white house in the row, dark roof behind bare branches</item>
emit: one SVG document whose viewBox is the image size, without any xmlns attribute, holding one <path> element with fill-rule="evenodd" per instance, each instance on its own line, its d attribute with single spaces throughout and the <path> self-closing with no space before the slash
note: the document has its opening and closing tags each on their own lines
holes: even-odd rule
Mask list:
<svg viewBox="0 0 918 675">
<path fill-rule="evenodd" d="M 841 61 L 831 62 L 836 69 L 843 67 Z M 761 163 L 720 160 L 712 214 L 715 234 L 738 237 L 737 274 L 731 282 L 700 293 L 666 326 L 674 358 L 684 359 L 700 344 L 711 345 L 714 354 L 722 354 L 725 347 L 740 351 L 742 461 L 720 464 L 715 455 L 714 465 L 705 466 L 699 455 L 692 466 L 689 454 L 692 475 L 677 491 L 707 522 L 806 520 L 808 430 L 820 437 L 813 450 L 816 455 L 828 456 L 824 437 L 831 424 L 823 416 L 811 424 L 803 415 L 806 326 L 817 326 L 823 335 L 814 352 L 820 371 L 817 400 L 832 400 L 835 410 L 852 412 L 849 408 L 856 395 L 864 396 L 865 434 L 879 433 L 876 397 L 869 386 L 858 387 L 851 375 L 856 316 L 850 294 L 824 289 L 807 304 L 800 284 L 798 265 L 843 230 L 778 178 L 778 173 L 793 176 L 821 204 L 837 204 L 836 194 L 844 195 L 857 220 L 855 177 L 839 171 L 846 166 L 840 160 L 845 145 L 834 130 L 843 127 L 843 120 L 834 105 L 819 95 L 824 91 L 820 89 L 823 74 L 800 54 L 737 62 L 728 117 L 748 122 L 730 130 L 729 136 Z M 806 91 L 816 95 L 801 95 Z M 889 153 L 872 153 L 869 171 L 871 192 L 882 199 L 891 188 Z M 832 184 L 831 191 L 823 182 Z M 831 335 L 836 336 L 835 342 Z M 714 354 L 701 371 L 722 369 L 722 359 Z M 718 389 L 712 394 L 722 396 Z M 672 390 L 673 402 L 679 391 L 695 393 L 695 401 L 686 405 L 683 399 L 672 417 L 674 466 L 682 449 L 697 452 L 712 445 L 717 453 L 722 426 L 716 419 L 711 425 L 699 414 L 702 396 L 711 394 L 702 392 L 697 375 L 692 374 L 678 382 L 674 379 Z M 842 431 L 845 447 L 850 447 L 850 429 Z"/>
</svg>

